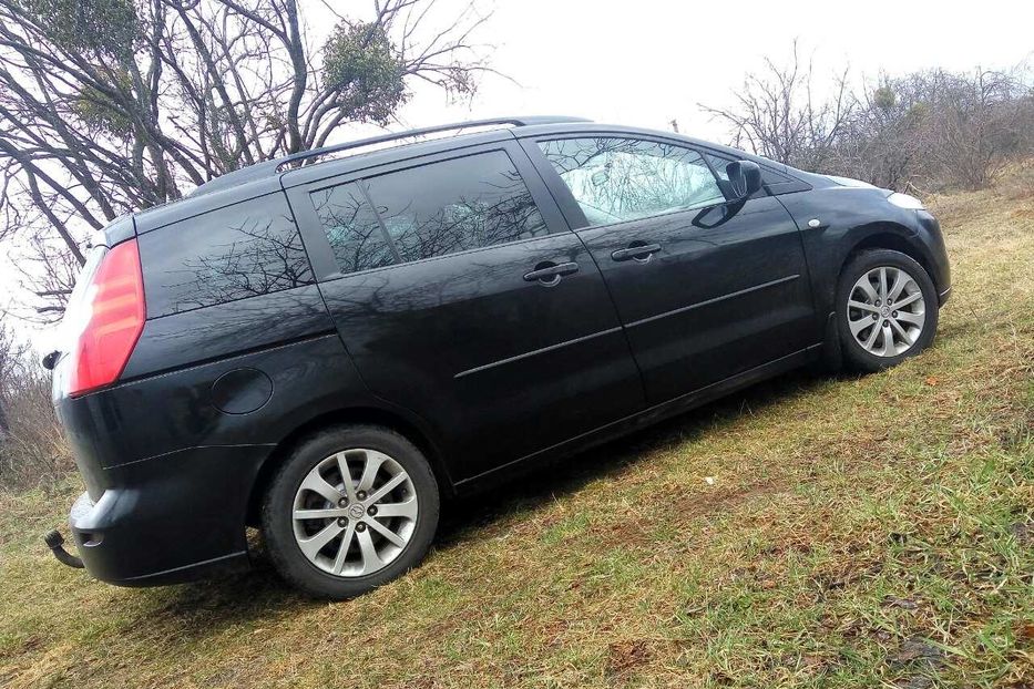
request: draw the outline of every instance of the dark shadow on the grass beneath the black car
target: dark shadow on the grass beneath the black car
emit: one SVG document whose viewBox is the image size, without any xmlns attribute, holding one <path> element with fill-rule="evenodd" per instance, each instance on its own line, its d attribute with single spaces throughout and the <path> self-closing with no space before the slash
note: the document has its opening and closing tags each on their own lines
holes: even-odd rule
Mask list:
<svg viewBox="0 0 1034 689">
<path fill-rule="evenodd" d="M 463 547 L 472 532 L 490 527 L 518 510 L 534 510 L 579 491 L 586 483 L 616 476 L 655 451 L 678 446 L 710 433 L 734 430 L 744 415 L 764 413 L 776 404 L 805 395 L 828 378 L 807 371 L 791 372 L 708 403 L 595 449 L 543 464 L 519 481 L 443 505 L 437 551 Z M 201 639 L 231 626 L 263 628 L 286 610 L 326 606 L 297 593 L 275 573 L 257 532 L 249 534 L 253 568 L 217 579 L 137 590 L 140 619 L 149 640 L 178 644 Z M 139 625 L 137 625 L 139 623 Z"/>
</svg>

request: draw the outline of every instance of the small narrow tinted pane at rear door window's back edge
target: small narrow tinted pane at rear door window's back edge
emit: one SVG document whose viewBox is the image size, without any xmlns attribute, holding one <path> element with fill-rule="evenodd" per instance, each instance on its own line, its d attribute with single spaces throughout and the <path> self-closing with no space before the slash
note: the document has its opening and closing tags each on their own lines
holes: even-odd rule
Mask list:
<svg viewBox="0 0 1034 689">
<path fill-rule="evenodd" d="M 355 184 L 342 184 L 310 194 L 319 222 L 344 272 L 380 268 L 395 263 L 373 209 Z"/>
</svg>

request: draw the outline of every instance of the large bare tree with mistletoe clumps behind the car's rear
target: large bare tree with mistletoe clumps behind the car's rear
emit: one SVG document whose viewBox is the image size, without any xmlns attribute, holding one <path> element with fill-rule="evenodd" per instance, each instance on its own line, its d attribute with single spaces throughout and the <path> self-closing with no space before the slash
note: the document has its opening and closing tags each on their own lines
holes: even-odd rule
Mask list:
<svg viewBox="0 0 1034 689">
<path fill-rule="evenodd" d="M 387 124 L 417 83 L 471 96 L 490 71 L 473 4 L 308 7 L 334 22 L 318 45 L 297 0 L 0 0 L 0 239 L 81 264 L 86 230 L 127 210 Z M 38 292 L 66 288 L 55 272 Z"/>
</svg>

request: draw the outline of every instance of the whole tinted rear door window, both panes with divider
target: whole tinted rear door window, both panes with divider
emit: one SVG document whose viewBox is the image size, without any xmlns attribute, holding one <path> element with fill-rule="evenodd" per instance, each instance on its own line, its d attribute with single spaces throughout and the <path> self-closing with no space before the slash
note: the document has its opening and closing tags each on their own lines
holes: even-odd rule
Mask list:
<svg viewBox="0 0 1034 689">
<path fill-rule="evenodd" d="M 310 197 L 345 272 L 549 232 L 504 151 L 429 163 L 320 189 Z"/>
</svg>

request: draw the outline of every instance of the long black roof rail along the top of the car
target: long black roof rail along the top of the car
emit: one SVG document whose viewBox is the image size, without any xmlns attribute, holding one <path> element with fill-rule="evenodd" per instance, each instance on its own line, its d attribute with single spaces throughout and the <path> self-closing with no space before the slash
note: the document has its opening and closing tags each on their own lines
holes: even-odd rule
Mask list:
<svg viewBox="0 0 1034 689">
<path fill-rule="evenodd" d="M 367 138 L 359 138 L 357 141 L 345 142 L 340 144 L 332 144 L 329 146 L 323 146 L 321 148 L 313 148 L 311 151 L 299 151 L 298 153 L 291 153 L 279 158 L 274 158 L 272 161 L 263 161 L 262 163 L 256 163 L 254 165 L 248 165 L 247 167 L 242 167 L 240 169 L 235 169 L 233 172 L 226 173 L 215 179 L 211 179 L 196 189 L 194 189 L 190 196 L 201 196 L 203 194 L 208 194 L 212 192 L 217 192 L 219 189 L 228 188 L 231 186 L 236 186 L 245 182 L 250 182 L 253 179 L 258 179 L 266 177 L 270 174 L 281 172 L 285 165 L 290 163 L 297 163 L 299 161 L 306 161 L 309 158 L 319 157 L 327 155 L 329 153 L 339 153 L 341 151 L 348 151 L 351 148 L 361 148 L 364 146 L 372 146 L 375 144 L 382 144 L 390 141 L 397 141 L 401 138 L 412 138 L 414 136 L 424 136 L 427 134 L 437 134 L 439 132 L 451 132 L 453 130 L 470 130 L 481 126 L 492 126 L 495 124 L 511 124 L 513 126 L 533 126 L 535 124 L 561 124 L 565 122 L 592 122 L 585 117 L 567 117 L 563 115 L 550 116 L 550 115 L 533 115 L 528 117 L 491 117 L 488 120 L 469 120 L 467 122 L 453 122 L 449 124 L 438 124 L 434 126 L 420 127 L 416 130 L 407 130 L 405 132 L 395 132 L 389 134 L 379 134 L 377 136 L 369 136 Z"/>
</svg>

